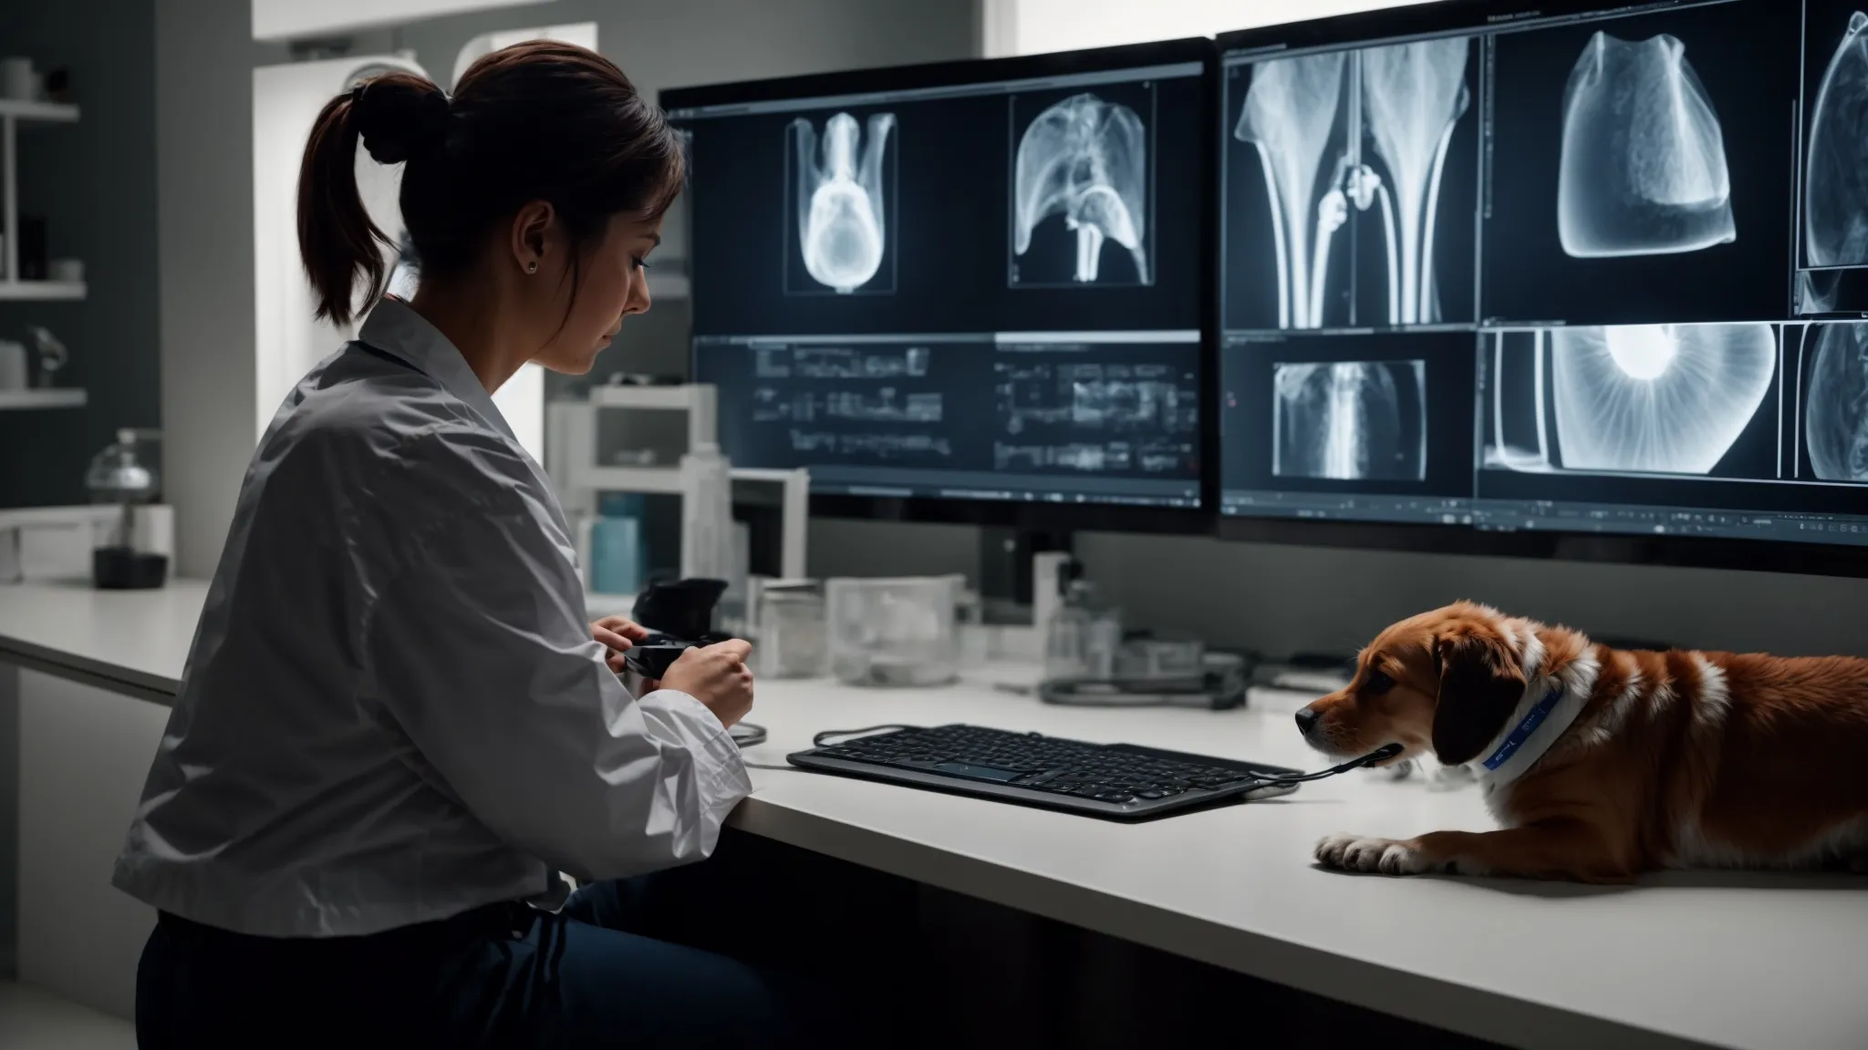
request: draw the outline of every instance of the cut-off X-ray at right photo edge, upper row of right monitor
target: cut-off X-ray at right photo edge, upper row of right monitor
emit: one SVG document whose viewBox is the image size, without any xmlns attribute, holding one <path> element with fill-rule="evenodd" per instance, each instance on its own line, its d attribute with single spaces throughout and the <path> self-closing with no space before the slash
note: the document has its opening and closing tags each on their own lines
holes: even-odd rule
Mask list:
<svg viewBox="0 0 1868 1050">
<path fill-rule="evenodd" d="M 1823 50 L 1810 26 L 1808 62 Z M 1855 11 L 1827 54 L 1810 105 L 1803 185 L 1803 250 L 1810 265 L 1868 263 L 1868 15 Z"/>
</svg>

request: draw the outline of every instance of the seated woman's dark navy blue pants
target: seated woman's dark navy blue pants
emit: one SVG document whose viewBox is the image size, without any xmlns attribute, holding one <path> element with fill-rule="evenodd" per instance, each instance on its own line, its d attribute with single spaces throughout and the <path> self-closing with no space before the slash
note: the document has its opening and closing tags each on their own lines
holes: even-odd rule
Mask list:
<svg viewBox="0 0 1868 1050">
<path fill-rule="evenodd" d="M 736 852 L 729 846 L 721 852 Z M 587 886 L 559 914 L 495 904 L 355 938 L 260 938 L 163 915 L 136 973 L 136 1041 L 144 1050 L 801 1044 L 800 1024 L 837 1018 L 839 1007 L 822 973 L 783 953 L 727 953 L 745 942 L 749 914 L 755 927 L 773 919 L 764 906 L 773 895 L 732 889 L 743 876 L 730 871 L 730 859 L 708 861 Z"/>
</svg>

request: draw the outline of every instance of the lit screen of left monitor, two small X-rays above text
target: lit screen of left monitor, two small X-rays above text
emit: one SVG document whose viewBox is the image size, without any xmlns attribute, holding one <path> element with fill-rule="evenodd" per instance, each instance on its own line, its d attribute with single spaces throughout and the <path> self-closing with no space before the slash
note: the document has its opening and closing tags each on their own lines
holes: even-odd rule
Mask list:
<svg viewBox="0 0 1868 1050">
<path fill-rule="evenodd" d="M 734 465 L 809 467 L 816 514 L 1210 529 L 1214 56 L 665 92 Z"/>
</svg>

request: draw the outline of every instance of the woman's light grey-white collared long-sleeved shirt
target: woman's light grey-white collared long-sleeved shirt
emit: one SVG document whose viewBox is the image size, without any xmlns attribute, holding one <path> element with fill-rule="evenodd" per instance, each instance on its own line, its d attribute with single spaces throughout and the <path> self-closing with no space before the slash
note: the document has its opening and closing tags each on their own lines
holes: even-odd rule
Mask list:
<svg viewBox="0 0 1868 1050">
<path fill-rule="evenodd" d="M 603 656 L 544 473 L 385 299 L 260 439 L 112 882 L 338 936 L 697 861 L 740 751 Z"/>
</svg>

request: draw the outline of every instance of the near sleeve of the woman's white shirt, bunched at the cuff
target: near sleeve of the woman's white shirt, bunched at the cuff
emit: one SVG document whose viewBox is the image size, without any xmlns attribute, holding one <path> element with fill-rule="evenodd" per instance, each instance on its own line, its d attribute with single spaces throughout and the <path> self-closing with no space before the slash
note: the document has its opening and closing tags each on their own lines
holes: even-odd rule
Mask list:
<svg viewBox="0 0 1868 1050">
<path fill-rule="evenodd" d="M 751 790 L 738 745 L 693 697 L 635 699 L 603 663 L 538 495 L 495 488 L 407 538 L 362 630 L 374 699 L 478 820 L 559 871 L 702 859 Z"/>
</svg>

